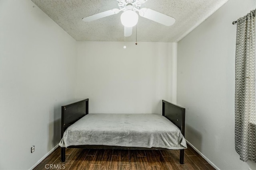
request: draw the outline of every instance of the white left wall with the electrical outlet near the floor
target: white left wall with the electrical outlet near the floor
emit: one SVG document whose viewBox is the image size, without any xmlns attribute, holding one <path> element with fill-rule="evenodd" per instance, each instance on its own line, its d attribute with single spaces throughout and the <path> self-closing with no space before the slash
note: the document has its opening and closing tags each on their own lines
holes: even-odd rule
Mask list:
<svg viewBox="0 0 256 170">
<path fill-rule="evenodd" d="M 60 141 L 76 41 L 30 0 L 0 6 L 0 169 L 28 169 Z"/>
</svg>

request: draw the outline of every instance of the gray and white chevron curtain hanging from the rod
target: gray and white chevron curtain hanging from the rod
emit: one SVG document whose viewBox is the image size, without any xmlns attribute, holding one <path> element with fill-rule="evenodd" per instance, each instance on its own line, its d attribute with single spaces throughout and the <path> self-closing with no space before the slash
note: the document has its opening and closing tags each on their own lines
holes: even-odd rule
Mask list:
<svg viewBox="0 0 256 170">
<path fill-rule="evenodd" d="M 240 160 L 256 162 L 256 17 L 236 21 L 235 149 Z"/>
</svg>

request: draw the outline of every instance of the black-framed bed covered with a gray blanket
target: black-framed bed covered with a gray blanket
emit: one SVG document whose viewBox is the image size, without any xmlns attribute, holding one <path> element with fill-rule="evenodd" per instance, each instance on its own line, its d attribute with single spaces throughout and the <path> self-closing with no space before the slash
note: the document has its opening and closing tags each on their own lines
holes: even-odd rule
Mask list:
<svg viewBox="0 0 256 170">
<path fill-rule="evenodd" d="M 185 108 L 162 100 L 160 114 L 90 113 L 89 99 L 62 106 L 61 160 L 66 148 L 180 150 L 184 163 Z"/>
</svg>

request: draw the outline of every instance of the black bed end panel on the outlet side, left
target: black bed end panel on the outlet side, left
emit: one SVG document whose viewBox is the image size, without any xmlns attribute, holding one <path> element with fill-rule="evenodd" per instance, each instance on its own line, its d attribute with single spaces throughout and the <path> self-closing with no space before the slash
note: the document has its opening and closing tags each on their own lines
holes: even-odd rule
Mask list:
<svg viewBox="0 0 256 170">
<path fill-rule="evenodd" d="M 73 123 L 88 114 L 89 99 L 61 106 L 61 137 Z"/>
</svg>

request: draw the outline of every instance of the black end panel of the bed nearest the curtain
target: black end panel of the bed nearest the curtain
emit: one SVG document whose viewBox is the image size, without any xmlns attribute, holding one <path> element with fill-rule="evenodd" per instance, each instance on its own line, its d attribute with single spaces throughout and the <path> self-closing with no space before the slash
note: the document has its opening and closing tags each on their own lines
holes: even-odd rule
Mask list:
<svg viewBox="0 0 256 170">
<path fill-rule="evenodd" d="M 185 136 L 185 108 L 162 100 L 162 115 L 176 125 Z"/>
</svg>

